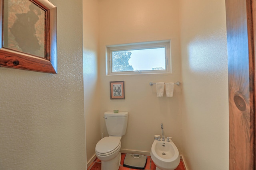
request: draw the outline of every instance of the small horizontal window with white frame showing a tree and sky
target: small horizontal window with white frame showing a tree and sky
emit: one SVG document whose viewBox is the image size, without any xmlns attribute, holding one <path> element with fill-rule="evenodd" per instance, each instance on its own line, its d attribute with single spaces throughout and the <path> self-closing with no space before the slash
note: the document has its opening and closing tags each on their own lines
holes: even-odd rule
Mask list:
<svg viewBox="0 0 256 170">
<path fill-rule="evenodd" d="M 107 46 L 108 75 L 170 73 L 170 41 Z"/>
</svg>

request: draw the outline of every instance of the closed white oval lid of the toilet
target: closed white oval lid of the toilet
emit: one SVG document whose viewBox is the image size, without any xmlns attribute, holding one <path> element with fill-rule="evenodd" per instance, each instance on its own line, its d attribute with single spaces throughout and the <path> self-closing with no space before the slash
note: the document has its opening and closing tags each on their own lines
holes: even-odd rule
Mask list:
<svg viewBox="0 0 256 170">
<path fill-rule="evenodd" d="M 104 137 L 98 141 L 96 144 L 95 150 L 100 154 L 105 154 L 115 150 L 120 146 L 120 140 L 115 137 Z"/>
</svg>

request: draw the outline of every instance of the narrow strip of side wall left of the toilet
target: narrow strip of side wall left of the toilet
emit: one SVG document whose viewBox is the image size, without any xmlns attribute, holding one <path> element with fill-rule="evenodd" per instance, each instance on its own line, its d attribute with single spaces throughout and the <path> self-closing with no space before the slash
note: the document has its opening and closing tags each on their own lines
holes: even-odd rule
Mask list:
<svg viewBox="0 0 256 170">
<path fill-rule="evenodd" d="M 100 102 L 98 80 L 98 1 L 83 1 L 84 103 L 87 163 L 95 156 L 100 140 Z"/>
</svg>

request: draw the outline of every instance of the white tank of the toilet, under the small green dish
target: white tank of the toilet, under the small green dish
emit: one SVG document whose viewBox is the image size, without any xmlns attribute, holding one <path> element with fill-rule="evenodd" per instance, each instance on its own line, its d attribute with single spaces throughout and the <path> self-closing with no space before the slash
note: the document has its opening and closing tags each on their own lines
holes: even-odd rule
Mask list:
<svg viewBox="0 0 256 170">
<path fill-rule="evenodd" d="M 104 117 L 108 135 L 125 135 L 128 122 L 128 112 L 120 111 L 118 113 L 114 113 L 113 111 L 106 111 L 104 113 Z"/>
</svg>

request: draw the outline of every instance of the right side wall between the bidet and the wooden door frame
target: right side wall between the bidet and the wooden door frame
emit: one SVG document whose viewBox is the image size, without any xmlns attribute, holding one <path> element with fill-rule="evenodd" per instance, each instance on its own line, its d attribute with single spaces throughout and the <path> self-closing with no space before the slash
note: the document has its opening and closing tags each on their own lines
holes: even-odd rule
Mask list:
<svg viewBox="0 0 256 170">
<path fill-rule="evenodd" d="M 225 0 L 181 0 L 182 150 L 189 170 L 228 170 Z"/>
</svg>

